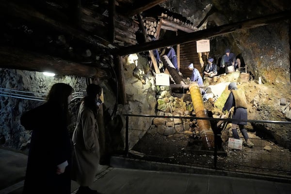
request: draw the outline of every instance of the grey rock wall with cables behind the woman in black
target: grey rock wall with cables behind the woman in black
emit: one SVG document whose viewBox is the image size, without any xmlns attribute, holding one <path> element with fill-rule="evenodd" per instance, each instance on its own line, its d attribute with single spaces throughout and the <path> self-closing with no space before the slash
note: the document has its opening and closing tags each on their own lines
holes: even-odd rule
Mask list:
<svg viewBox="0 0 291 194">
<path fill-rule="evenodd" d="M 25 150 L 27 144 L 30 142 L 30 131 L 26 131 L 20 124 L 20 117 L 22 113 L 31 110 L 44 101 L 37 101 L 32 99 L 23 99 L 11 97 L 13 90 L 21 95 L 26 95 L 23 92 L 32 92 L 42 94 L 45 97 L 50 87 L 57 82 L 69 83 L 74 92 L 83 91 L 86 87 L 84 78 L 76 78 L 74 76 L 58 76 L 47 77 L 41 72 L 22 71 L 16 69 L 0 69 L 0 144 L 9 146 L 20 150 Z M 5 90 L 3 90 L 5 89 Z M 7 92 L 3 96 L 3 91 Z M 28 93 L 27 93 L 28 94 Z M 33 96 L 39 96 L 34 94 Z M 74 127 L 74 118 L 76 110 L 78 110 L 80 98 L 74 100 L 70 104 L 70 112 L 72 113 L 73 123 L 70 125 L 70 130 Z"/>
</svg>

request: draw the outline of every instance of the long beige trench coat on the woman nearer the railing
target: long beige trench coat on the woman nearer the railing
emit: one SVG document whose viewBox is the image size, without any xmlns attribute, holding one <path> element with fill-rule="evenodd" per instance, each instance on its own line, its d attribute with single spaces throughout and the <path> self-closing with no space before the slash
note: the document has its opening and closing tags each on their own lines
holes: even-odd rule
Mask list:
<svg viewBox="0 0 291 194">
<path fill-rule="evenodd" d="M 83 102 L 79 108 L 72 141 L 72 179 L 81 186 L 90 186 L 97 174 L 100 159 L 98 125 L 93 112 Z"/>
</svg>

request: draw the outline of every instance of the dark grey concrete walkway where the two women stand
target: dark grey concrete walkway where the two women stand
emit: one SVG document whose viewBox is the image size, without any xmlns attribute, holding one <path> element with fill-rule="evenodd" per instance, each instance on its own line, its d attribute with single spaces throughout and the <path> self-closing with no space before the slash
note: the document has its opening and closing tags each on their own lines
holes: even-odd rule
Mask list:
<svg viewBox="0 0 291 194">
<path fill-rule="evenodd" d="M 0 149 L 0 194 L 21 194 L 27 156 Z M 138 161 L 137 161 L 138 162 Z M 291 184 L 252 178 L 100 167 L 102 194 L 291 194 Z M 72 181 L 72 193 L 79 185 Z"/>
</svg>

